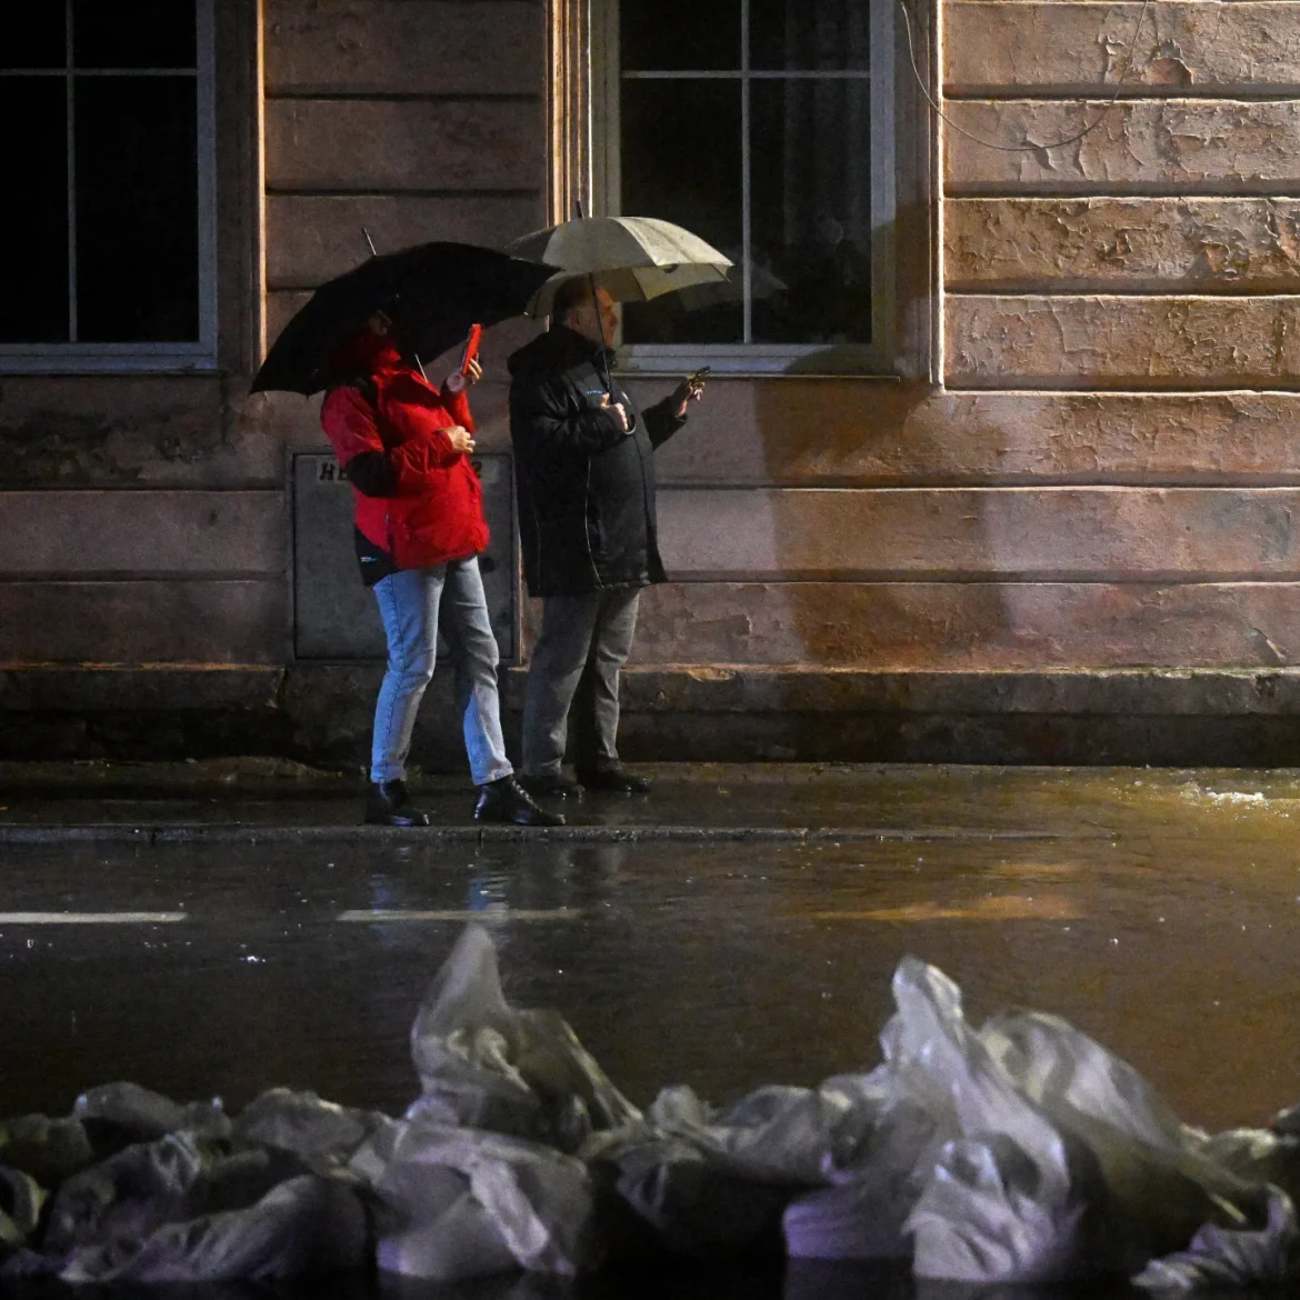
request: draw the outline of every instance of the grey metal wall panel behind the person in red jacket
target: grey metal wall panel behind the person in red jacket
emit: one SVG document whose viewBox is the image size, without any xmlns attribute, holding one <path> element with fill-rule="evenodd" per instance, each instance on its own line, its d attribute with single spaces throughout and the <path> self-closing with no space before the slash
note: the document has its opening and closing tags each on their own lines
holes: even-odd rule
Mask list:
<svg viewBox="0 0 1300 1300">
<path fill-rule="evenodd" d="M 510 456 L 473 458 L 491 530 L 478 556 L 503 663 L 519 658 L 519 563 Z M 439 653 L 442 651 L 439 641 Z M 384 628 L 352 545 L 352 489 L 329 454 L 294 456 L 294 653 L 299 659 L 384 659 Z"/>
</svg>

